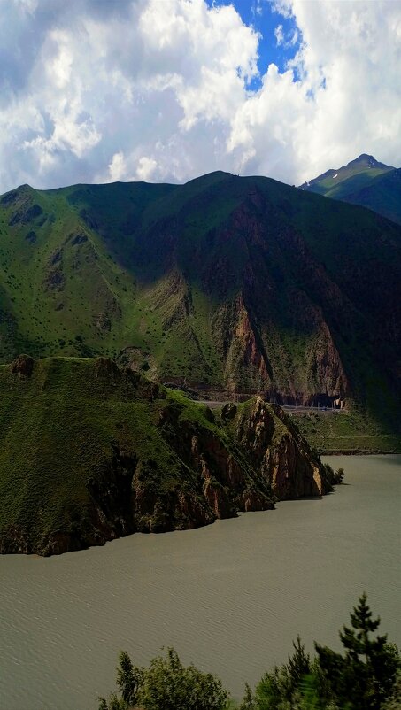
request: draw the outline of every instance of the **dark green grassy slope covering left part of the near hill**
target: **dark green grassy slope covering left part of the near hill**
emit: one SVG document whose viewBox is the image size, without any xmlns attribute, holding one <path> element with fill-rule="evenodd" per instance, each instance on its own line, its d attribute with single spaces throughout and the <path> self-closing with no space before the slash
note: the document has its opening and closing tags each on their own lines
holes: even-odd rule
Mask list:
<svg viewBox="0 0 401 710">
<path fill-rule="evenodd" d="M 163 484 L 174 481 L 174 461 L 152 426 L 158 405 L 141 401 L 130 382 L 112 387 L 98 379 L 93 360 L 40 360 L 30 379 L 3 366 L 0 378 L 3 529 L 27 526 L 37 544 L 85 517 L 86 484 L 111 463 L 112 442 L 128 454 L 135 448 L 143 459 L 155 457 Z"/>
</svg>

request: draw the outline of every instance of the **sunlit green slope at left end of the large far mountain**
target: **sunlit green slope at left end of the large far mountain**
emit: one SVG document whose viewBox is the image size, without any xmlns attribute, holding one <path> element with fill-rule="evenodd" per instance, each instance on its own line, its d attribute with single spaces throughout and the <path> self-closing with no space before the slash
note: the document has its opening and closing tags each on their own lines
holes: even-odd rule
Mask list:
<svg viewBox="0 0 401 710">
<path fill-rule="evenodd" d="M 17 206 L 24 192 L 31 191 L 21 192 Z M 121 318 L 117 309 L 111 329 L 102 332 L 96 328 L 96 316 L 107 307 L 116 310 L 116 302 L 126 303 L 135 284 L 128 274 L 121 281 L 120 266 L 99 249 L 96 237 L 82 228 L 64 198 L 35 193 L 35 205 L 47 217 L 43 224 L 42 215 L 11 228 L 5 228 L 8 214 L 2 220 L 2 282 L 18 324 L 19 351 L 51 354 L 66 349 L 78 354 L 82 338 L 89 351 L 101 340 L 104 352 L 110 352 L 116 338 L 127 338 L 127 314 L 121 309 Z M 32 234 L 35 241 L 29 239 Z M 78 243 L 73 243 L 77 237 Z"/>
</svg>

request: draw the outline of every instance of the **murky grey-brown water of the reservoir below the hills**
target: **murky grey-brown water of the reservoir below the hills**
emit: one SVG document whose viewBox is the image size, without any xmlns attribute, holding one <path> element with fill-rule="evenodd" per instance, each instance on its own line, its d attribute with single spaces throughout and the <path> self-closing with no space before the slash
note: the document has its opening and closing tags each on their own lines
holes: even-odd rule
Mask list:
<svg viewBox="0 0 401 710">
<path fill-rule="evenodd" d="M 0 706 L 96 710 L 120 649 L 161 646 L 220 676 L 235 698 L 300 634 L 340 648 L 366 591 L 401 644 L 401 456 L 326 457 L 345 483 L 206 528 L 133 535 L 42 559 L 0 557 Z"/>
</svg>

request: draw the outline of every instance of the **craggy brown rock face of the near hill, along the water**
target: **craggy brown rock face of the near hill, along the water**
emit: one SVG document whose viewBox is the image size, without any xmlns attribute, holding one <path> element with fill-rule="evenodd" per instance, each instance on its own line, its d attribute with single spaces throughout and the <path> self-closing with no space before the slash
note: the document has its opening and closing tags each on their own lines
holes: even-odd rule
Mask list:
<svg viewBox="0 0 401 710">
<path fill-rule="evenodd" d="M 103 375 L 116 376 L 107 359 L 98 359 L 96 367 Z M 12 529 L 0 552 L 73 552 L 136 531 L 193 529 L 235 517 L 238 511 L 272 509 L 274 499 L 321 496 L 331 490 L 320 460 L 278 407 L 274 412 L 258 397 L 245 411 L 234 407 L 229 412 L 231 419 L 221 418 L 219 426 L 232 433 L 222 440 L 209 428 L 180 421 L 179 405 L 166 405 L 158 428 L 180 455 L 181 483 L 161 490 L 151 482 L 155 460 L 140 460 L 114 445 L 103 473 L 87 482 L 89 521 L 51 532 L 40 549 L 31 544 L 26 530 Z M 191 485 L 184 482 L 188 470 Z"/>
</svg>

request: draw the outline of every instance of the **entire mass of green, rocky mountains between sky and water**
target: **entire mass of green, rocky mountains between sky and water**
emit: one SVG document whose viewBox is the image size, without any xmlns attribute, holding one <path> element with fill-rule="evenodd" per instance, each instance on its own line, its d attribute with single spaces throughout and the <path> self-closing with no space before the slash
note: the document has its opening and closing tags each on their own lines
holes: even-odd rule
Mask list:
<svg viewBox="0 0 401 710">
<path fill-rule="evenodd" d="M 0 362 L 0 552 L 319 496 L 328 474 L 279 405 L 343 408 L 298 417 L 320 451 L 398 450 L 401 225 L 222 172 L 23 185 L 0 197 Z"/>
</svg>

